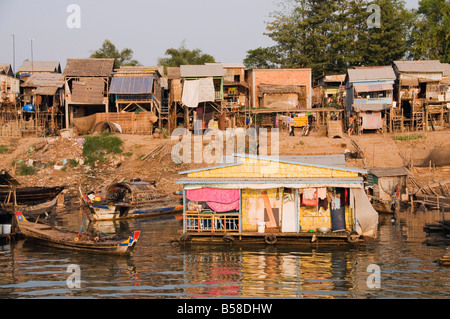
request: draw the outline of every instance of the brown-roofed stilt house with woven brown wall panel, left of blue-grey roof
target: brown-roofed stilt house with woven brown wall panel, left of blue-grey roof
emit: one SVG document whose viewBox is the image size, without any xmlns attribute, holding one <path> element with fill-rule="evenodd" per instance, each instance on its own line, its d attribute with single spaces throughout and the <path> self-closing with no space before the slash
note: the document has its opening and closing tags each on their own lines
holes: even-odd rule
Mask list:
<svg viewBox="0 0 450 319">
<path fill-rule="evenodd" d="M 67 59 L 64 69 L 65 125 L 72 119 L 99 112 L 108 113 L 108 90 L 114 59 Z"/>
</svg>

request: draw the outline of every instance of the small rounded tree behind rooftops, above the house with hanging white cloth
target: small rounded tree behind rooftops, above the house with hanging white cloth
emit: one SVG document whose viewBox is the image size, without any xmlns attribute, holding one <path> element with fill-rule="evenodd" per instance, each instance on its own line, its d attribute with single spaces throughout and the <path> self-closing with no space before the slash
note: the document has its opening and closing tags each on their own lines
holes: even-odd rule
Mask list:
<svg viewBox="0 0 450 319">
<path fill-rule="evenodd" d="M 187 49 L 184 41 L 178 49 L 167 49 L 165 55 L 170 57 L 158 58 L 158 65 L 165 67 L 179 67 L 180 65 L 199 65 L 216 62 L 214 57 L 203 53 L 200 49 Z"/>
</svg>

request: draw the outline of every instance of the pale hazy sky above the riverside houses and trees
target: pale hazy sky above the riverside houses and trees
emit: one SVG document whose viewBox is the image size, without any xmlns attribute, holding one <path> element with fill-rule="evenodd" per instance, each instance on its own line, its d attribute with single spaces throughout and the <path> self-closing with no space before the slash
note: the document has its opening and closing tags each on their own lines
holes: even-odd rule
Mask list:
<svg viewBox="0 0 450 319">
<path fill-rule="evenodd" d="M 419 0 L 407 0 L 417 8 Z M 218 62 L 242 62 L 246 52 L 272 45 L 264 35 L 277 0 L 0 0 L 0 63 L 15 70 L 24 60 L 88 58 L 105 39 L 130 48 L 142 65 L 156 65 L 182 41 Z M 80 28 L 69 28 L 70 4 L 80 7 Z M 33 39 L 32 41 L 30 39 Z"/>
</svg>

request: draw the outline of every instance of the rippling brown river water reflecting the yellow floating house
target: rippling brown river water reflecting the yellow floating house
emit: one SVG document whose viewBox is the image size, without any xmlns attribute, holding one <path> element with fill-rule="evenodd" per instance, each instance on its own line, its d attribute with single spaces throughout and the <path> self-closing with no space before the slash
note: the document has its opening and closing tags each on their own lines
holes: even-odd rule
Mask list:
<svg viewBox="0 0 450 319">
<path fill-rule="evenodd" d="M 51 216 L 78 230 L 79 209 Z M 95 224 L 128 235 L 141 230 L 131 257 L 96 256 L 18 240 L 1 246 L 0 298 L 450 298 L 450 268 L 426 246 L 423 226 L 438 213 L 380 215 L 379 236 L 362 246 L 174 247 L 182 221 L 142 219 Z M 69 285 L 79 267 L 79 288 Z"/>
</svg>

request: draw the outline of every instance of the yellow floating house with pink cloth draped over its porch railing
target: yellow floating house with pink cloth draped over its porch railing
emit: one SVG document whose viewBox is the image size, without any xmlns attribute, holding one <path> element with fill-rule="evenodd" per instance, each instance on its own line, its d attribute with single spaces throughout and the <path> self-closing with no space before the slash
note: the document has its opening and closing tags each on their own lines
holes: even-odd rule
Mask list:
<svg viewBox="0 0 450 319">
<path fill-rule="evenodd" d="M 358 242 L 377 236 L 364 170 L 344 155 L 235 155 L 181 172 L 183 243 Z"/>
</svg>

